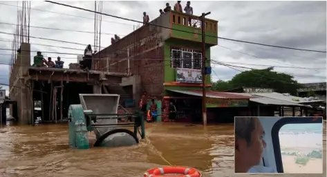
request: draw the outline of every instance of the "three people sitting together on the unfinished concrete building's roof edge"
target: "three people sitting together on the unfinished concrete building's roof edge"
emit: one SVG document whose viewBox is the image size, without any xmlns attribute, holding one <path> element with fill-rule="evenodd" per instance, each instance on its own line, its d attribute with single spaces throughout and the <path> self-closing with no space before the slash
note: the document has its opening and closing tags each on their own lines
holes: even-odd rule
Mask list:
<svg viewBox="0 0 327 177">
<path fill-rule="evenodd" d="M 55 67 L 55 68 L 63 68 L 64 61 L 60 59 L 60 56 L 57 57 L 55 62 L 52 61 L 51 57 L 48 57 L 48 61 L 44 59 L 44 56 L 41 52 L 37 52 L 37 55 L 34 56 L 33 65 L 35 67 Z"/>
</svg>

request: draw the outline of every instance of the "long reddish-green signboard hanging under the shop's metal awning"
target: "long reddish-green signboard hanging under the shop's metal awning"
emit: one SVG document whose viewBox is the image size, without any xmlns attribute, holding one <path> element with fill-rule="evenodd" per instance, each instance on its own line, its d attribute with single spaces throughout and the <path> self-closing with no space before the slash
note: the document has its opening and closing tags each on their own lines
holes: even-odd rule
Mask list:
<svg viewBox="0 0 327 177">
<path fill-rule="evenodd" d="M 207 107 L 247 107 L 247 99 L 207 98 Z"/>
</svg>

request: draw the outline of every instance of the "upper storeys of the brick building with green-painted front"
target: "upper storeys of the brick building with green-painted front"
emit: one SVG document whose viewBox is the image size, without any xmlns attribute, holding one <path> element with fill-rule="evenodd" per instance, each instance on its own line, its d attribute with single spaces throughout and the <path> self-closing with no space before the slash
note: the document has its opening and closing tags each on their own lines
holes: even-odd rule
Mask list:
<svg viewBox="0 0 327 177">
<path fill-rule="evenodd" d="M 189 18 L 192 26 L 187 23 Z M 205 21 L 206 35 L 211 36 L 206 37 L 208 59 L 209 48 L 217 45 L 217 23 L 211 19 Z M 150 25 L 143 25 L 98 52 L 97 59 L 93 59 L 93 70 L 129 72 L 140 76 L 140 94 L 147 91 L 157 98 L 169 96 L 165 90 L 200 90 L 202 80 L 196 78 L 200 74 L 202 57 L 199 27 L 200 21 L 196 16 L 179 12 L 163 14 Z M 184 81 L 176 81 L 176 76 L 183 72 L 188 76 L 182 77 Z M 210 83 L 210 76 L 207 76 L 207 83 Z"/>
</svg>

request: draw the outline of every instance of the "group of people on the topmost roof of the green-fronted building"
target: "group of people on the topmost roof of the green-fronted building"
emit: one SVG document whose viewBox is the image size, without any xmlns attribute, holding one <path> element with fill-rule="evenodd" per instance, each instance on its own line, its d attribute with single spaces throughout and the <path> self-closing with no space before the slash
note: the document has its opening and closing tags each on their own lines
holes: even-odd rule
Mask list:
<svg viewBox="0 0 327 177">
<path fill-rule="evenodd" d="M 183 13 L 183 8 L 180 2 L 181 1 L 177 1 L 177 3 L 175 3 L 174 11 Z M 171 11 L 171 6 L 169 5 L 169 3 L 166 3 L 166 8 L 164 8 L 164 10 L 162 9 L 159 10 L 160 16 L 170 11 Z M 193 8 L 191 7 L 191 1 L 187 1 L 184 11 L 185 14 L 193 15 Z M 149 23 L 149 21 L 150 21 L 149 15 L 147 14 L 147 12 L 143 12 L 143 25 Z M 189 19 L 189 25 L 191 25 L 191 19 Z"/>
</svg>

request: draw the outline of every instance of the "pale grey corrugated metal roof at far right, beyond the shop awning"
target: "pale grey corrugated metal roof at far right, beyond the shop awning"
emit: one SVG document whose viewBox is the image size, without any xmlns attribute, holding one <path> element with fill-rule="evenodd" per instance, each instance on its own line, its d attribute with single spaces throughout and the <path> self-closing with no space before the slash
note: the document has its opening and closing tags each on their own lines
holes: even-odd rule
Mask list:
<svg viewBox="0 0 327 177">
<path fill-rule="evenodd" d="M 291 95 L 287 96 L 287 95 L 280 94 L 280 93 L 277 93 L 277 92 L 272 92 L 272 93 L 252 93 L 252 95 L 263 96 L 263 97 L 267 97 L 267 98 L 273 98 L 273 99 L 277 99 L 277 100 L 280 100 L 280 101 L 288 101 L 288 102 L 291 102 L 291 103 L 315 103 L 315 102 L 322 101 L 322 100 L 308 101 L 305 98 L 301 98 L 301 97 L 298 97 L 298 96 L 291 96 Z M 292 100 L 293 98 L 296 98 L 299 101 L 293 101 Z"/>
</svg>

